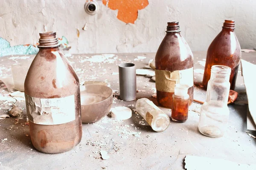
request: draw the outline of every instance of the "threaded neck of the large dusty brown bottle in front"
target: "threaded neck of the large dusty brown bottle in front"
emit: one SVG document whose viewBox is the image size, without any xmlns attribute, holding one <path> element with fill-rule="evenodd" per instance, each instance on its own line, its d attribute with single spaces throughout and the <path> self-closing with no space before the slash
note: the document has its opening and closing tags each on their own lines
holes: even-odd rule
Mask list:
<svg viewBox="0 0 256 170">
<path fill-rule="evenodd" d="M 39 45 L 38 48 L 56 48 L 60 45 L 58 44 L 58 38 L 56 38 L 56 32 L 42 32 L 39 33 Z"/>
</svg>

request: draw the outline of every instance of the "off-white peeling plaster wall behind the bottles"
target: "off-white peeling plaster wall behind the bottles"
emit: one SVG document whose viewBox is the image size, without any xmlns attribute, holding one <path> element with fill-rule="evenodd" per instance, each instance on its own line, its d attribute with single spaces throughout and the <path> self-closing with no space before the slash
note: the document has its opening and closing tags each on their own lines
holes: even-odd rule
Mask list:
<svg viewBox="0 0 256 170">
<path fill-rule="evenodd" d="M 207 50 L 224 19 L 236 21 L 241 48 L 256 47 L 256 0 L 148 0 L 135 24 L 126 24 L 98 1 L 96 15 L 84 11 L 85 0 L 0 0 L 0 37 L 10 44 L 36 44 L 41 31 L 65 36 L 71 53 L 155 52 L 166 24 L 179 21 L 193 51 Z M 82 28 L 87 23 L 87 30 Z M 77 37 L 77 30 L 80 36 Z"/>
</svg>

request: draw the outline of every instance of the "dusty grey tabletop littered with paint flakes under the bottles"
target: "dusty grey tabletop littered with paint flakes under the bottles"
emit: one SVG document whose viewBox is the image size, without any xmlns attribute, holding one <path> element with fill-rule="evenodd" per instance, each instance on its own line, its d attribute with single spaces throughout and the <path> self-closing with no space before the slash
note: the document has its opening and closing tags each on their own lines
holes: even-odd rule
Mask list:
<svg viewBox="0 0 256 170">
<path fill-rule="evenodd" d="M 194 68 L 204 69 L 206 52 L 194 52 Z M 119 89 L 118 65 L 133 62 L 137 68 L 143 68 L 154 53 L 115 54 L 98 56 L 99 62 L 91 56 L 100 54 L 74 54 L 67 57 L 79 76 L 80 84 L 84 81 L 107 82 L 113 90 Z M 146 59 L 137 59 L 145 56 Z M 242 53 L 242 58 L 256 62 L 256 53 Z M 11 65 L 28 62 L 35 55 L 27 57 L 0 57 L 0 77 L 11 75 Z M 97 56 L 96 56 L 97 57 Z M 94 57 L 95 58 L 95 57 Z M 255 61 L 254 61 L 255 59 Z M 195 81 L 201 81 L 203 74 L 195 73 Z M 0 82 L 0 94 L 8 96 L 10 92 Z M 137 76 L 137 99 L 146 97 L 154 103 L 151 95 L 155 91 L 155 83 L 150 78 Z M 236 91 L 245 91 L 241 71 L 239 71 Z M 195 87 L 195 99 L 204 100 L 205 91 Z M 246 95 L 239 95 L 238 100 L 246 100 Z M 8 107 L 9 101 L 0 101 L 0 107 Z M 136 101 L 124 102 L 116 99 L 115 106 L 126 106 L 135 109 Z M 10 104 L 11 105 L 11 104 Z M 17 105 L 24 108 L 25 102 Z M 11 107 L 11 106 L 9 106 Z M 256 139 L 248 136 L 246 130 L 247 105 L 229 105 L 230 119 L 227 132 L 221 138 L 210 138 L 198 131 L 200 104 L 193 103 L 189 118 L 185 123 L 172 122 L 167 130 L 157 133 L 133 111 L 131 119 L 118 121 L 105 116 L 99 122 L 83 124 L 81 143 L 65 153 L 45 154 L 32 146 L 29 126 L 26 122 L 26 108 L 23 119 L 6 118 L 0 120 L 0 170 L 182 170 L 186 155 L 205 156 L 234 161 L 241 164 L 254 164 L 256 158 Z M 169 116 L 170 109 L 161 109 Z M 8 111 L 0 110 L 1 114 Z M 18 121 L 17 121 L 18 120 Z M 105 150 L 110 158 L 102 160 L 99 151 Z"/>
</svg>

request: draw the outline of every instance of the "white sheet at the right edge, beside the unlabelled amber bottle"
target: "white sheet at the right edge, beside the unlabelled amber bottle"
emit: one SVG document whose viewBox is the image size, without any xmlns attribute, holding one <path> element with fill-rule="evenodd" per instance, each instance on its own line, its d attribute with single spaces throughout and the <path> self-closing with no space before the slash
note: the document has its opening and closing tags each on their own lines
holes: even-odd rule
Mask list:
<svg viewBox="0 0 256 170">
<path fill-rule="evenodd" d="M 241 69 L 242 69 L 242 75 L 244 78 L 244 85 L 245 85 L 247 99 L 248 99 L 249 111 L 253 118 L 254 124 L 256 124 L 256 105 L 255 105 L 256 79 L 252 77 L 253 76 L 252 73 L 256 72 L 256 65 L 241 59 Z"/>
</svg>

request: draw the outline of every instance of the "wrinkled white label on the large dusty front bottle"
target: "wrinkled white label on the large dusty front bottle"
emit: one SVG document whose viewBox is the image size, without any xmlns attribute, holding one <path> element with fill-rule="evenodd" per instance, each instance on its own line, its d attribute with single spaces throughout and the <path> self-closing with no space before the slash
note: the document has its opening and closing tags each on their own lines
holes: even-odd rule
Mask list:
<svg viewBox="0 0 256 170">
<path fill-rule="evenodd" d="M 40 125 L 59 125 L 76 119 L 75 97 L 39 99 L 28 96 L 26 110 L 29 121 Z"/>
</svg>

